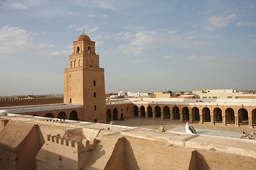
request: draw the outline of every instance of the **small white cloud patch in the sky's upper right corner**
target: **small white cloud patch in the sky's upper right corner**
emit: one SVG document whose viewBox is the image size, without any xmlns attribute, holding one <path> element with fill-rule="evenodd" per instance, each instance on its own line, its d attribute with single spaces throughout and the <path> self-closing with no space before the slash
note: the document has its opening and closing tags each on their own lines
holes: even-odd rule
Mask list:
<svg viewBox="0 0 256 170">
<path fill-rule="evenodd" d="M 205 26 L 204 28 L 209 31 L 224 28 L 225 26 L 228 26 L 230 21 L 232 21 L 235 16 L 235 13 L 232 13 L 228 16 L 210 16 L 210 18 L 208 18 L 208 26 Z"/>
</svg>

